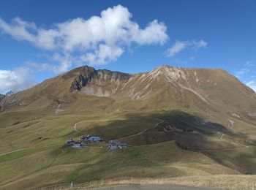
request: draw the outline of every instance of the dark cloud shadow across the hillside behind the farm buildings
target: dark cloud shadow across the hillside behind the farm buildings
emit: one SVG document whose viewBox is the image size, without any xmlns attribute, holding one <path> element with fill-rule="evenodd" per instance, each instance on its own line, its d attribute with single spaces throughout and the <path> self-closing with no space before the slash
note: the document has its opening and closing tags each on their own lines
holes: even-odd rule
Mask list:
<svg viewBox="0 0 256 190">
<path fill-rule="evenodd" d="M 158 125 L 155 126 L 157 123 Z M 239 136 L 219 123 L 208 122 L 197 115 L 178 110 L 151 114 L 129 113 L 123 115 L 122 119 L 86 127 L 81 131 L 83 134 L 99 135 L 106 141 L 122 138 L 129 140 L 134 145 L 176 140 L 186 146 L 187 149 L 207 148 L 206 139 L 214 135 L 219 135 L 219 137 L 221 134 L 232 137 Z M 140 132 L 143 133 L 140 134 Z M 68 136 L 74 137 L 74 135 L 80 134 L 72 132 Z M 210 145 L 210 148 L 214 148 L 213 145 Z"/>
</svg>

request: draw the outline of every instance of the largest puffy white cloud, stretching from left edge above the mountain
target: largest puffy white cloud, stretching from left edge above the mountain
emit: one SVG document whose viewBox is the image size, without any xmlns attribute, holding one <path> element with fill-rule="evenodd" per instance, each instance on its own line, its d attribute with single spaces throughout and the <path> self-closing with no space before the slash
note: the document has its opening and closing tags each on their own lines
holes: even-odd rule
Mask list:
<svg viewBox="0 0 256 190">
<path fill-rule="evenodd" d="M 86 64 L 108 64 L 116 61 L 125 48 L 132 44 L 163 45 L 167 41 L 167 28 L 164 23 L 153 20 L 148 26 L 141 28 L 131 18 L 129 10 L 118 5 L 103 10 L 100 16 L 92 16 L 87 20 L 75 18 L 53 24 L 48 29 L 39 28 L 20 18 L 14 18 L 12 23 L 0 18 L 0 30 L 14 39 L 30 42 L 50 52 L 58 52 L 62 55 L 57 60 L 61 66 L 59 71 L 62 71 L 72 64 L 69 63 L 69 56 Z M 41 67 L 48 68 L 47 64 Z"/>
</svg>

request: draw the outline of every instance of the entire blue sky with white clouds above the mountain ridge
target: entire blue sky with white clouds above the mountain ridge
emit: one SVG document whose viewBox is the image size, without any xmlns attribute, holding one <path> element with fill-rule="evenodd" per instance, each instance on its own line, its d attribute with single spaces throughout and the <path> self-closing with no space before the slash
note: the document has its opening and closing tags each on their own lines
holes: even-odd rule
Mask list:
<svg viewBox="0 0 256 190">
<path fill-rule="evenodd" d="M 78 66 L 225 69 L 256 91 L 256 0 L 0 0 L 0 93 Z"/>
</svg>

